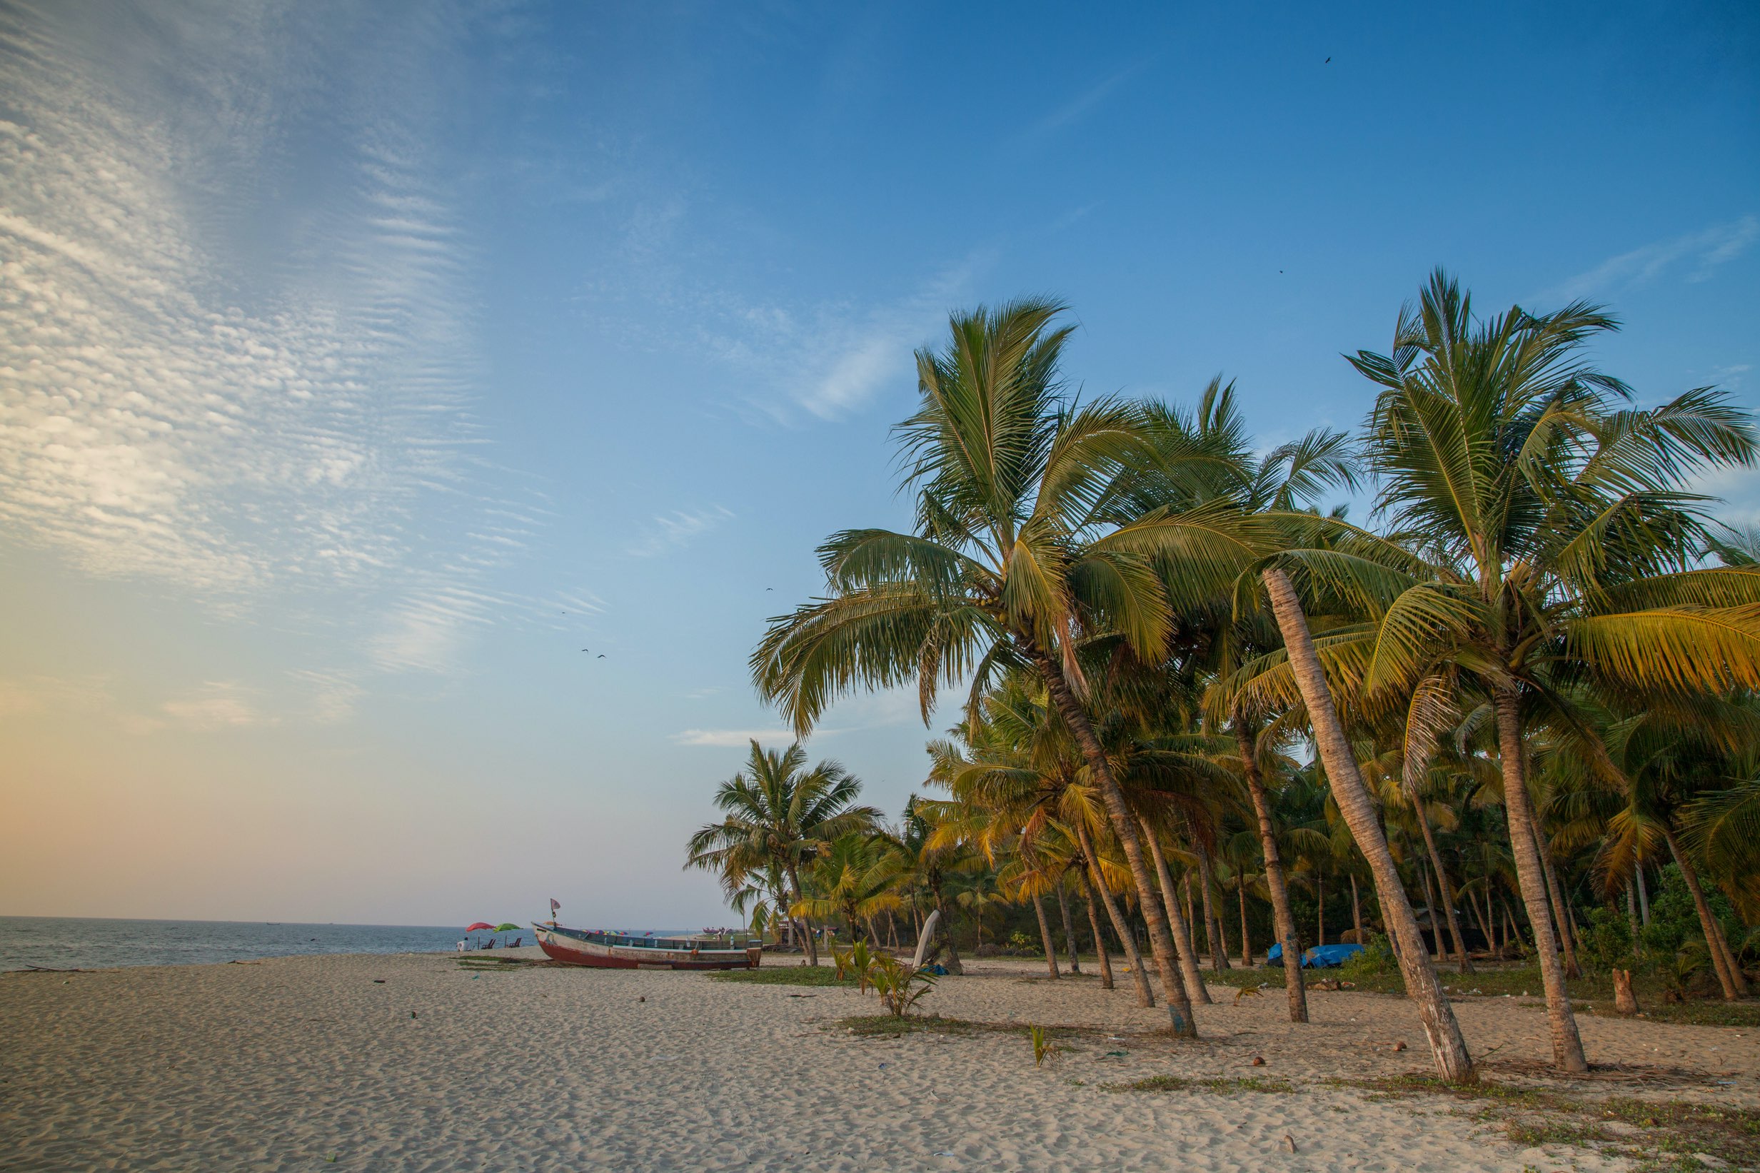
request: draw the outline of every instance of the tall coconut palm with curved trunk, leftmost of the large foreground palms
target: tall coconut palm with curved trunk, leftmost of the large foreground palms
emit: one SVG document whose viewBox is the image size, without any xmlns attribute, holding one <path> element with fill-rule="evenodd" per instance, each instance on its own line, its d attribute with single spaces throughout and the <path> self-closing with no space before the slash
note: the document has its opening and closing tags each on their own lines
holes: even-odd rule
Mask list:
<svg viewBox="0 0 1760 1173">
<path fill-rule="evenodd" d="M 1079 403 L 1060 376 L 1063 306 L 1026 299 L 961 313 L 942 352 L 917 353 L 920 406 L 899 426 L 913 533 L 850 529 L 820 547 L 827 594 L 771 621 L 752 656 L 759 691 L 801 732 L 854 688 L 936 688 L 1040 675 L 1093 774 L 1149 927 L 1172 1029 L 1193 1036 L 1172 934 L 1125 793 L 1095 733 L 1082 647 L 1118 635 L 1160 659 L 1176 607 L 1221 596 L 1260 552 L 1227 503 L 1118 521 L 1119 485 L 1174 477 L 1153 420 L 1118 399 Z"/>
</svg>

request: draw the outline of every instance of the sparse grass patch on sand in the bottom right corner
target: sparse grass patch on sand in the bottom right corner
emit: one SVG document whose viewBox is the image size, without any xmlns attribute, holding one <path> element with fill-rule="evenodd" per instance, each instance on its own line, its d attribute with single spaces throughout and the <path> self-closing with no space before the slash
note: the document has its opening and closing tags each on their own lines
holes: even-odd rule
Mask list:
<svg viewBox="0 0 1760 1173">
<path fill-rule="evenodd" d="M 1491 1080 L 1457 1087 L 1431 1076 L 1327 1080 L 1327 1085 L 1368 1092 L 1368 1099 L 1450 1096 L 1477 1103 L 1473 1115 L 1501 1124 L 1517 1145 L 1595 1148 L 1658 1173 L 1709 1168 L 1697 1154 L 1712 1154 L 1742 1169 L 1760 1168 L 1760 1111 L 1753 1108 L 1635 1096 L 1579 1099 Z M 1607 1124 L 1624 1127 L 1616 1133 Z"/>
</svg>

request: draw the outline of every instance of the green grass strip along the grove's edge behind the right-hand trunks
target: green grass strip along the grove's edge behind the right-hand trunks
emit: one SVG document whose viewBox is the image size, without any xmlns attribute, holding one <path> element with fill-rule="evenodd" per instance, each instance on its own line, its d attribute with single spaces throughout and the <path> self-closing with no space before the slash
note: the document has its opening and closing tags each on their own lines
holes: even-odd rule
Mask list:
<svg viewBox="0 0 1760 1173">
<path fill-rule="evenodd" d="M 1338 980 L 1338 969 L 1309 969 L 1309 990 L 1315 981 Z M 1470 974 L 1456 973 L 1454 965 L 1436 967 L 1436 978 L 1450 1001 L 1471 1002 L 1480 997 L 1545 997 L 1540 983 L 1538 965 L 1478 964 Z M 1357 994 L 1397 994 L 1404 997 L 1406 985 L 1397 973 L 1389 974 L 1348 974 Z M 1232 988 L 1262 985 L 1265 994 L 1283 988 L 1283 967 L 1223 969 L 1220 973 L 1204 971 L 1209 985 Z M 1605 1018 L 1614 1013 L 1614 980 L 1607 974 L 1586 974 L 1565 983 L 1575 1002 L 1577 1013 L 1591 1013 Z M 1661 978 L 1654 974 L 1637 974 L 1632 980 L 1639 1006 L 1644 1008 L 1646 1022 L 1683 1022 L 1695 1027 L 1746 1027 L 1760 1029 L 1760 1001 L 1725 1002 L 1723 999 L 1688 999 L 1684 1002 L 1665 1002 Z"/>
</svg>

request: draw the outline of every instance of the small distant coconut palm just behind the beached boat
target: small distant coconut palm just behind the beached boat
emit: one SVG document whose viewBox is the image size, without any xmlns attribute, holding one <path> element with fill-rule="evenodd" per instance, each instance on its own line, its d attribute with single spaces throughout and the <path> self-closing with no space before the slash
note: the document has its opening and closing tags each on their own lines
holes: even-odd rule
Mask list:
<svg viewBox="0 0 1760 1173">
<path fill-rule="evenodd" d="M 690 837 L 685 867 L 718 872 L 729 897 L 744 888 L 748 878 L 766 876 L 774 867 L 788 878 L 787 904 L 799 904 L 806 895 L 801 869 L 831 842 L 866 832 L 880 820 L 875 807 L 857 805 L 861 791 L 861 779 L 836 761 L 808 770 L 801 742 L 778 753 L 753 739 L 746 769 L 715 791 L 722 821 L 706 823 Z M 808 960 L 817 965 L 811 922 L 803 930 Z"/>
</svg>

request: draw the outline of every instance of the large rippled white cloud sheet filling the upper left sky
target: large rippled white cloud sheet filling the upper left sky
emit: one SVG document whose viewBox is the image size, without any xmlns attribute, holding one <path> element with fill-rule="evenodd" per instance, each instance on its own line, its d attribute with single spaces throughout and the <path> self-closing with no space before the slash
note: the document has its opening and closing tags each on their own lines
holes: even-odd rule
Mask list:
<svg viewBox="0 0 1760 1173">
<path fill-rule="evenodd" d="M 0 14 L 0 536 L 231 610 L 352 593 L 378 667 L 444 670 L 542 526 L 470 459 L 429 146 L 468 19 L 72 16 Z"/>
</svg>

